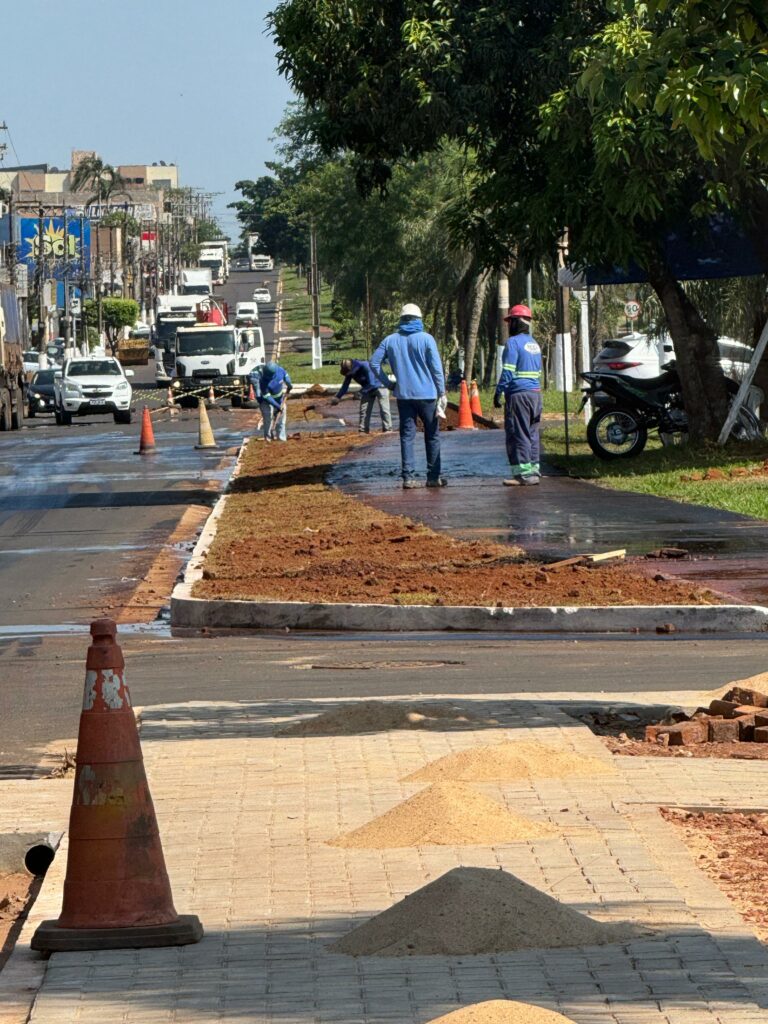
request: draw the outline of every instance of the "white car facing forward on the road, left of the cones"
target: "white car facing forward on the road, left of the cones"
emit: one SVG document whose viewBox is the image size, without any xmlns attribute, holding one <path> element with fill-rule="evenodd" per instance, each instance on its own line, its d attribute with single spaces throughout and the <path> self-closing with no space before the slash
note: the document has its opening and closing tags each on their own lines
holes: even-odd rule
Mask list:
<svg viewBox="0 0 768 1024">
<path fill-rule="evenodd" d="M 56 423 L 72 424 L 73 416 L 103 416 L 112 413 L 116 423 L 131 422 L 133 390 L 123 370 L 112 356 L 68 359 L 53 380 L 53 413 Z"/>
</svg>

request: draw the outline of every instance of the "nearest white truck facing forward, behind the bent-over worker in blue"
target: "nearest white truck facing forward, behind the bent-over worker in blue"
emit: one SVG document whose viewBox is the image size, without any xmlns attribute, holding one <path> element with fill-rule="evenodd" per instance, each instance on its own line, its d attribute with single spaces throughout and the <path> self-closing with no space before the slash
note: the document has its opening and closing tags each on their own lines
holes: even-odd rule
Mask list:
<svg viewBox="0 0 768 1024">
<path fill-rule="evenodd" d="M 196 406 L 211 388 L 217 398 L 242 404 L 248 397 L 251 371 L 264 361 L 261 330 L 252 328 L 249 333 L 253 343 L 244 346 L 243 332 L 233 327 L 198 324 L 177 330 L 171 392 L 180 406 Z"/>
</svg>

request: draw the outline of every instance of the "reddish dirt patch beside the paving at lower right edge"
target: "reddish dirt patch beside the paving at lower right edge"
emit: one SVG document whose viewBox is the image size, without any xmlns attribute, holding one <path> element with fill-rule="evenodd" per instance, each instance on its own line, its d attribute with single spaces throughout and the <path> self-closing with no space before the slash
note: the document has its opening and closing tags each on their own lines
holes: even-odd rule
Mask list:
<svg viewBox="0 0 768 1024">
<path fill-rule="evenodd" d="M 768 941 L 765 865 L 768 862 L 768 814 L 662 810 L 677 825 L 698 866 L 710 876 Z"/>
</svg>

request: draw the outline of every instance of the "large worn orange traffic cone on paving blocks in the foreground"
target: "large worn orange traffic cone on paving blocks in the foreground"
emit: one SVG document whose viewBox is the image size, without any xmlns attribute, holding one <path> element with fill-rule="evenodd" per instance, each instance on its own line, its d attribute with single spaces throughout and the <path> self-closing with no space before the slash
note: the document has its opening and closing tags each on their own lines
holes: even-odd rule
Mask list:
<svg viewBox="0 0 768 1024">
<path fill-rule="evenodd" d="M 203 926 L 179 915 L 144 774 L 111 618 L 91 623 L 78 735 L 63 904 L 32 948 L 126 949 L 199 942 Z"/>
</svg>

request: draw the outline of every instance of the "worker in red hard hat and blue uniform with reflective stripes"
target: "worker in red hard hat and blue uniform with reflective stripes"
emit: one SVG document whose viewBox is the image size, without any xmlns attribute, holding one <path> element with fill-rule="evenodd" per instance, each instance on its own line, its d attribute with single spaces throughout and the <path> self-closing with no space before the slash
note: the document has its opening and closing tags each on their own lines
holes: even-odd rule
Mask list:
<svg viewBox="0 0 768 1024">
<path fill-rule="evenodd" d="M 504 401 L 504 432 L 512 475 L 504 485 L 530 486 L 541 481 L 540 439 L 542 423 L 542 350 L 530 335 L 532 313 L 527 306 L 512 306 L 504 317 L 509 339 L 502 356 L 502 375 L 496 385 L 494 407 Z"/>
</svg>

